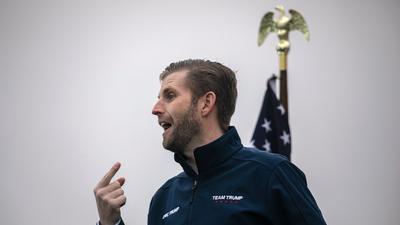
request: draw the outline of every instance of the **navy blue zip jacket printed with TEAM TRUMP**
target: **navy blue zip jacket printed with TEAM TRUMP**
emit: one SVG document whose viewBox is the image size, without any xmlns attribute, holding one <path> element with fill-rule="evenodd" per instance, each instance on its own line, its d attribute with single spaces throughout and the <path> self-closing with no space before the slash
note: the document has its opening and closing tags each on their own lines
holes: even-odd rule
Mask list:
<svg viewBox="0 0 400 225">
<path fill-rule="evenodd" d="M 234 127 L 199 147 L 153 196 L 149 225 L 326 224 L 304 174 L 284 157 L 243 147 Z"/>
</svg>

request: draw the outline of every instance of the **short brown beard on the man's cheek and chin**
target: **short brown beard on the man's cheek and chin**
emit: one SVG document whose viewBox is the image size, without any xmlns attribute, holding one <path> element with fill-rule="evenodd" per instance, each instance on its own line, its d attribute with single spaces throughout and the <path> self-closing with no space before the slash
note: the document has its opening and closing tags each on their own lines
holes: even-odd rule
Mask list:
<svg viewBox="0 0 400 225">
<path fill-rule="evenodd" d="M 164 138 L 165 149 L 174 153 L 183 153 L 193 137 L 200 133 L 200 123 L 196 120 L 195 107 L 192 105 L 181 120 L 176 121 L 169 140 Z"/>
</svg>

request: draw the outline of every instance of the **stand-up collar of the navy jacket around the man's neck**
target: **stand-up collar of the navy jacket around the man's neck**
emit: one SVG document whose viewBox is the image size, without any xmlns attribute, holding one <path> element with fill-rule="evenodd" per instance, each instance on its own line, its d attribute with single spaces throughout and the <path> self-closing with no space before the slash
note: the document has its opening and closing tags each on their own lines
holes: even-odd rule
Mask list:
<svg viewBox="0 0 400 225">
<path fill-rule="evenodd" d="M 242 147 L 243 145 L 235 127 L 229 127 L 228 131 L 217 140 L 196 148 L 194 150 L 194 158 L 199 175 L 220 165 Z M 183 154 L 175 153 L 175 161 L 181 164 L 187 175 L 197 176 L 192 167 L 186 162 Z"/>
</svg>

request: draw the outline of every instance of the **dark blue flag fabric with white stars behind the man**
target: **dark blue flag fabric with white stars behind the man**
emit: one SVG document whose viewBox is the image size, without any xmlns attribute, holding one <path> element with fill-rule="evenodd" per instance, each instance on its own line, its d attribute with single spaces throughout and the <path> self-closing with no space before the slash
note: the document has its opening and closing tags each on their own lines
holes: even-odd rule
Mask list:
<svg viewBox="0 0 400 225">
<path fill-rule="evenodd" d="M 267 90 L 251 138 L 254 147 L 286 156 L 290 160 L 291 137 L 288 114 L 275 94 L 276 76 L 267 81 Z"/>
</svg>

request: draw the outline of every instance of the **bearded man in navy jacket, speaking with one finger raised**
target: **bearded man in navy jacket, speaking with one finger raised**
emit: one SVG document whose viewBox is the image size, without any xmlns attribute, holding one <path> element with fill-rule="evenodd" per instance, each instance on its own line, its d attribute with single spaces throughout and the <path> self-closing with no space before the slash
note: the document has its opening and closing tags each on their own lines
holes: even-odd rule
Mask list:
<svg viewBox="0 0 400 225">
<path fill-rule="evenodd" d="M 284 157 L 246 148 L 230 118 L 234 72 L 217 62 L 185 60 L 160 75 L 152 113 L 163 146 L 183 171 L 153 196 L 148 224 L 325 224 L 304 174 Z M 117 163 L 95 188 L 101 225 L 123 224 L 124 178 Z"/>
</svg>

